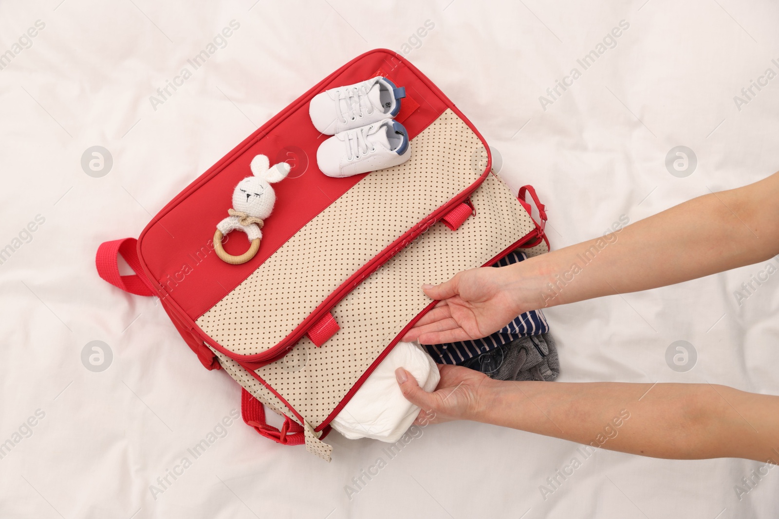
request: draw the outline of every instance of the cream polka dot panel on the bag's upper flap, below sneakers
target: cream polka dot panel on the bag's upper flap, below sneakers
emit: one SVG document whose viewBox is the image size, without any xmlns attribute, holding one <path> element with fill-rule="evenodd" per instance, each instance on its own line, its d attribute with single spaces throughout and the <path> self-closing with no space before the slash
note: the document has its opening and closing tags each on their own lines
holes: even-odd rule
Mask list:
<svg viewBox="0 0 779 519">
<path fill-rule="evenodd" d="M 486 157 L 478 135 L 447 109 L 411 141 L 411 159 L 355 184 L 197 324 L 238 355 L 272 348 L 349 276 L 473 184 Z"/>
</svg>

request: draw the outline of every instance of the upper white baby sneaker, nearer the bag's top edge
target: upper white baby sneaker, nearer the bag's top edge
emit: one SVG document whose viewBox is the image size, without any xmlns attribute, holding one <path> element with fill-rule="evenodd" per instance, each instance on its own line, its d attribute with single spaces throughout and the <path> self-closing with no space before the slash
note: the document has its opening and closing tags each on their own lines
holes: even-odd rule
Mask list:
<svg viewBox="0 0 779 519">
<path fill-rule="evenodd" d="M 308 114 L 319 132 L 335 135 L 395 117 L 405 96 L 406 89 L 379 75 L 317 94 L 308 104 Z"/>
</svg>

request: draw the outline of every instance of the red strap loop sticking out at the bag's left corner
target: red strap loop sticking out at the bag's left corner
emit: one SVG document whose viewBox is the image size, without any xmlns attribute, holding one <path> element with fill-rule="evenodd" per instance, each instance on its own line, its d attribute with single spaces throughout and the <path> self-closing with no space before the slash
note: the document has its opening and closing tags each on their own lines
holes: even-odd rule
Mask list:
<svg viewBox="0 0 779 519">
<path fill-rule="evenodd" d="M 155 293 L 153 285 L 143 273 L 141 261 L 138 259 L 137 244 L 138 240 L 135 238 L 106 241 L 100 244 L 95 257 L 97 273 L 111 285 L 125 292 L 136 296 L 153 296 Z M 119 275 L 118 254 L 122 254 L 122 258 L 125 258 L 127 265 L 130 265 L 135 274 Z"/>
</svg>

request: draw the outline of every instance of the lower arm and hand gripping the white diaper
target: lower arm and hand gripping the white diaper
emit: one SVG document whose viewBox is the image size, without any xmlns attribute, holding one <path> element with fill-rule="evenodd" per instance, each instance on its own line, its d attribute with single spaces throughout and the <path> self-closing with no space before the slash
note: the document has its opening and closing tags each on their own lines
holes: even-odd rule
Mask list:
<svg viewBox="0 0 779 519">
<path fill-rule="evenodd" d="M 397 370 L 417 423 L 470 419 L 654 458 L 779 461 L 779 397 L 712 384 L 514 382 L 439 366 L 434 393 Z"/>
</svg>

